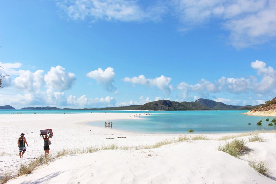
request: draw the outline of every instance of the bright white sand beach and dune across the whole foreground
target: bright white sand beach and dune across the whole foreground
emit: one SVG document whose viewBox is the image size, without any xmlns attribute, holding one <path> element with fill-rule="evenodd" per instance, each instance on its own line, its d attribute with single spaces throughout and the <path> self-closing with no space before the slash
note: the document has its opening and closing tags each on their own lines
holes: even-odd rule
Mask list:
<svg viewBox="0 0 276 184">
<path fill-rule="evenodd" d="M 52 128 L 52 154 L 63 148 L 83 149 L 111 144 L 131 148 L 65 155 L 7 183 L 276 183 L 275 133 L 259 134 L 265 139 L 261 142 L 248 142 L 251 136 L 244 136 L 251 151 L 240 158 L 217 150 L 228 140 L 214 140 L 233 134 L 205 134 L 213 140 L 190 140 L 159 148 L 136 149 L 177 139 L 179 135 L 131 133 L 104 127 L 105 121 L 130 118 L 134 117 L 127 113 L 0 115 L 0 173 L 16 174 L 22 163 L 44 154 L 39 130 Z M 91 121 L 103 121 L 103 127 L 86 125 Z M 20 159 L 17 138 L 22 132 L 26 134 L 29 147 Z M 188 137 L 197 135 L 187 134 Z M 106 139 L 116 137 L 126 138 Z M 251 168 L 248 165 L 250 159 L 265 161 L 270 168 L 270 178 Z"/>
</svg>

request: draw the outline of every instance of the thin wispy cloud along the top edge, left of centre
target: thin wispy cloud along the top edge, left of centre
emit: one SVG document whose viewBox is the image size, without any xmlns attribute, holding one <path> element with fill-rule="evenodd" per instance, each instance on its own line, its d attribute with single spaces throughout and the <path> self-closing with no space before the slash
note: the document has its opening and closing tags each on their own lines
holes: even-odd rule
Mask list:
<svg viewBox="0 0 276 184">
<path fill-rule="evenodd" d="M 69 19 L 75 21 L 143 21 L 159 20 L 160 14 L 166 12 L 163 3 L 149 6 L 143 10 L 132 0 L 67 0 L 57 2 Z"/>
</svg>

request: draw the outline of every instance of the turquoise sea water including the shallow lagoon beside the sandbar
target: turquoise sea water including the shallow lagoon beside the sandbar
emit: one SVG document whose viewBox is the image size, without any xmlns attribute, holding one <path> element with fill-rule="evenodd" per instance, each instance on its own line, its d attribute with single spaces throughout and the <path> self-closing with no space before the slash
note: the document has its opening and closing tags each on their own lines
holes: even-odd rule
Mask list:
<svg viewBox="0 0 276 184">
<path fill-rule="evenodd" d="M 241 113 L 247 111 L 107 111 L 107 110 L 3 110 L 0 114 L 69 114 L 69 113 L 130 113 L 143 114 L 155 113 L 143 116 L 142 119 L 114 120 L 113 128 L 128 132 L 140 133 L 188 133 L 193 129 L 194 133 L 234 133 L 251 132 L 254 130 L 272 130 L 275 125 L 267 124 L 273 117 L 246 116 Z M 265 121 L 269 118 L 270 121 Z M 274 117 L 275 118 L 275 117 Z M 259 120 L 263 125 L 256 125 Z M 110 120 L 111 121 L 111 120 Z M 251 123 L 251 125 L 248 125 Z M 90 122 L 89 125 L 104 127 L 104 121 Z"/>
</svg>

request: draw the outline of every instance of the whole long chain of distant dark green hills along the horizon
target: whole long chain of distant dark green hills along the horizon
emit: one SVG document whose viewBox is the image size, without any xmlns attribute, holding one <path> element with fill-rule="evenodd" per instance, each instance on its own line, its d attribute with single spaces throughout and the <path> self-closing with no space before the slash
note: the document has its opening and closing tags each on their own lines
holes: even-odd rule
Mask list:
<svg viewBox="0 0 276 184">
<path fill-rule="evenodd" d="M 24 107 L 22 109 L 32 110 L 250 110 L 260 105 L 227 105 L 222 102 L 216 102 L 209 99 L 199 98 L 195 102 L 174 102 L 170 100 L 158 100 L 148 102 L 144 105 L 129 105 L 121 107 L 105 107 L 105 108 L 85 108 L 72 109 L 57 107 Z"/>
</svg>

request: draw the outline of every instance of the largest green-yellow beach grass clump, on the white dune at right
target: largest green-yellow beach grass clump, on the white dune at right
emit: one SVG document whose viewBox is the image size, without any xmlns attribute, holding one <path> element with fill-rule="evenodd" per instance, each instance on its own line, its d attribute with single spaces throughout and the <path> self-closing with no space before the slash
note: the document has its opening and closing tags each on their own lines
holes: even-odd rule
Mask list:
<svg viewBox="0 0 276 184">
<path fill-rule="evenodd" d="M 218 150 L 224 151 L 229 155 L 239 158 L 240 155 L 245 153 L 249 148 L 246 146 L 243 139 L 234 139 L 224 144 L 219 145 Z"/>
</svg>

